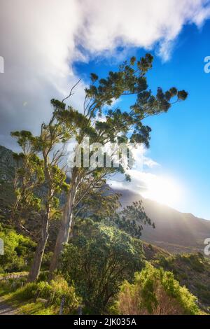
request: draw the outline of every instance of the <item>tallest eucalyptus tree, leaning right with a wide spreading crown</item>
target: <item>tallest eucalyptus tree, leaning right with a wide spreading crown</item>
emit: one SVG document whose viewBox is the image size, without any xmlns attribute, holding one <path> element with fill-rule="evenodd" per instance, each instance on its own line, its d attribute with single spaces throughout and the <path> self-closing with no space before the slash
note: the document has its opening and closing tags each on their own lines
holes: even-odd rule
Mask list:
<svg viewBox="0 0 210 329">
<path fill-rule="evenodd" d="M 158 87 L 157 93 L 153 94 L 146 79 L 146 73 L 152 68 L 152 64 L 153 56 L 146 54 L 139 61 L 132 57 L 130 62 L 120 65 L 118 71 L 110 71 L 107 78 L 99 79 L 96 74 L 91 74 L 90 87 L 85 89 L 83 113 L 74 110 L 78 118 L 75 130 L 78 145 L 83 145 L 83 141 L 88 137 L 90 144 L 99 143 L 106 146 L 109 143 L 141 143 L 149 146 L 151 128 L 144 125 L 144 119 L 166 113 L 172 104 L 185 100 L 188 96 L 185 90 L 177 90 L 176 87 L 166 92 Z M 120 104 L 116 101 L 121 97 L 127 97 L 125 111 L 115 105 Z M 61 116 L 65 114 L 68 122 L 71 118 L 67 118 L 68 115 L 61 105 L 64 104 L 57 102 L 57 112 Z M 103 117 L 103 120 L 100 117 Z M 85 149 L 83 151 L 85 152 Z M 92 156 L 94 155 L 90 153 L 90 162 Z M 75 207 L 90 190 L 100 188 L 104 181 L 117 171 L 123 173 L 120 164 L 118 168 L 107 168 L 102 164 L 96 168 L 91 165 L 71 168 L 71 183 L 50 265 L 51 276 L 57 269 L 64 244 L 69 241 Z"/>
</svg>

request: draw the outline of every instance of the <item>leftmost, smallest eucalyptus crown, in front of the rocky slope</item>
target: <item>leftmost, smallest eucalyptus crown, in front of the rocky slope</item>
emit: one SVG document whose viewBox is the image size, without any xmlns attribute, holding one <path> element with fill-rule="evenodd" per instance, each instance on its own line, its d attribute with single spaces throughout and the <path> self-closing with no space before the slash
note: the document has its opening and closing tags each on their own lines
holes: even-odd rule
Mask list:
<svg viewBox="0 0 210 329">
<path fill-rule="evenodd" d="M 29 235 L 33 235 L 25 225 L 26 214 L 38 212 L 41 209 L 41 199 L 35 195 L 35 190 L 41 188 L 44 183 L 43 161 L 38 158 L 34 150 L 31 132 L 22 130 L 12 132 L 12 137 L 18 139 L 18 144 L 22 149 L 21 153 L 13 153 L 15 160 L 15 179 L 13 186 L 15 189 L 15 202 L 12 207 L 10 222 L 18 230 L 23 230 Z"/>
</svg>

